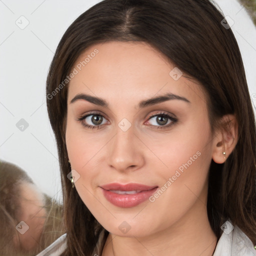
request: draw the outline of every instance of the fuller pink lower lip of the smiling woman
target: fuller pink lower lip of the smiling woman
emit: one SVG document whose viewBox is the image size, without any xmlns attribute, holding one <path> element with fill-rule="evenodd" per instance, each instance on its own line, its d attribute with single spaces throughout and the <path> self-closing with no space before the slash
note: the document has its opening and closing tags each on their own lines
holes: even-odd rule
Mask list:
<svg viewBox="0 0 256 256">
<path fill-rule="evenodd" d="M 156 191 L 157 188 L 158 187 L 154 187 L 150 190 L 143 190 L 135 194 L 117 194 L 103 188 L 101 189 L 105 198 L 113 205 L 128 208 L 136 206 L 141 202 L 147 200 L 149 196 L 151 196 Z"/>
</svg>

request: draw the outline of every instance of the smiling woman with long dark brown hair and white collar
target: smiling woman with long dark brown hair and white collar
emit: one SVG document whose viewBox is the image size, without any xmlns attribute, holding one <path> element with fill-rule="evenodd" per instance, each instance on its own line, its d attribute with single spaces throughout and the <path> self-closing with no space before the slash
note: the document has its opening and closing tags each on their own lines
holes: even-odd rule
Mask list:
<svg viewBox="0 0 256 256">
<path fill-rule="evenodd" d="M 212 2 L 97 3 L 46 94 L 67 231 L 38 255 L 256 255 L 255 119 Z"/>
</svg>

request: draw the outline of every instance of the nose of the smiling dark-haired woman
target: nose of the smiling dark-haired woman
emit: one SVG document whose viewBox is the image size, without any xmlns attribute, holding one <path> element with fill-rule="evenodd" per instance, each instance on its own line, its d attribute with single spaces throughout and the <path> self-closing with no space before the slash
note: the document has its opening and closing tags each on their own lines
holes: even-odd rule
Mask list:
<svg viewBox="0 0 256 256">
<path fill-rule="evenodd" d="M 117 126 L 107 145 L 107 164 L 119 172 L 134 171 L 144 164 L 143 146 L 132 126 L 126 131 Z"/>
</svg>

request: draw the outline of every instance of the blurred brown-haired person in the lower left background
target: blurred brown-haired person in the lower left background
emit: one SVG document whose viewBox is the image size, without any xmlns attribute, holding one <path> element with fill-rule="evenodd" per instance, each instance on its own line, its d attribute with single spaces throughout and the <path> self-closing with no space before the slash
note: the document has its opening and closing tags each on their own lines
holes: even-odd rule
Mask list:
<svg viewBox="0 0 256 256">
<path fill-rule="evenodd" d="M 65 232 L 61 215 L 24 170 L 0 161 L 0 255 L 37 254 Z"/>
</svg>

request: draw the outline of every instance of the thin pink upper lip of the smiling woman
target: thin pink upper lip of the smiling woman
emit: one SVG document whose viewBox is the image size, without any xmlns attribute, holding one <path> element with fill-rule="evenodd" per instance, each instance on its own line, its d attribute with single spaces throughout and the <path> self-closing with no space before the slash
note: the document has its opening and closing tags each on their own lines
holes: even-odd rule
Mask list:
<svg viewBox="0 0 256 256">
<path fill-rule="evenodd" d="M 139 183 L 127 183 L 127 184 L 120 184 L 120 183 L 109 183 L 100 186 L 105 190 L 119 190 L 119 191 L 133 191 L 133 190 L 151 190 L 157 186 L 148 186 Z"/>
</svg>

